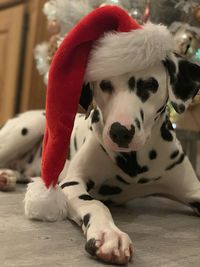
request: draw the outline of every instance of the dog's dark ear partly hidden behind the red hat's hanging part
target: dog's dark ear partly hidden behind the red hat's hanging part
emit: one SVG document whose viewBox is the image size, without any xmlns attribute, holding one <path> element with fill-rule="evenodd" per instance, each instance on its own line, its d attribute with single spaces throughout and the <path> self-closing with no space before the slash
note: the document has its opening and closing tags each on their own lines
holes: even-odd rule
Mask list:
<svg viewBox="0 0 200 267">
<path fill-rule="evenodd" d="M 82 87 L 81 97 L 79 104 L 85 110 L 86 117 L 90 114 L 91 106 L 93 103 L 93 90 L 90 83 L 84 83 Z"/>
</svg>

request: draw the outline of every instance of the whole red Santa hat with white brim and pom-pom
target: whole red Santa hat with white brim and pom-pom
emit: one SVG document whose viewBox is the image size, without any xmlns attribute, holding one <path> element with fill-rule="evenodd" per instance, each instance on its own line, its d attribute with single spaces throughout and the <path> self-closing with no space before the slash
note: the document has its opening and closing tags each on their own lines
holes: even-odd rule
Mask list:
<svg viewBox="0 0 200 267">
<path fill-rule="evenodd" d="M 25 198 L 28 217 L 55 220 L 66 216 L 65 197 L 57 182 L 67 158 L 84 80 L 143 70 L 163 60 L 172 47 L 166 27 L 152 23 L 140 26 L 117 6 L 94 10 L 71 30 L 50 68 L 42 180 L 29 185 Z M 49 215 L 52 203 L 54 209 L 58 204 L 56 215 Z"/>
</svg>

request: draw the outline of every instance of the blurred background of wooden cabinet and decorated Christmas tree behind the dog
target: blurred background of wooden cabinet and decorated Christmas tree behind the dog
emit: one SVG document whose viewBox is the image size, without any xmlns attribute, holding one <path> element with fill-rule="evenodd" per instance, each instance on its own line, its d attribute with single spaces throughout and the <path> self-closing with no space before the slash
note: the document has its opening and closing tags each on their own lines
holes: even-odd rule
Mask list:
<svg viewBox="0 0 200 267">
<path fill-rule="evenodd" d="M 45 107 L 48 70 L 68 31 L 101 5 L 126 9 L 141 24 L 169 27 L 177 52 L 200 64 L 200 0 L 0 0 L 0 124 L 13 115 Z M 169 113 L 200 173 L 200 97 L 178 116 Z"/>
</svg>

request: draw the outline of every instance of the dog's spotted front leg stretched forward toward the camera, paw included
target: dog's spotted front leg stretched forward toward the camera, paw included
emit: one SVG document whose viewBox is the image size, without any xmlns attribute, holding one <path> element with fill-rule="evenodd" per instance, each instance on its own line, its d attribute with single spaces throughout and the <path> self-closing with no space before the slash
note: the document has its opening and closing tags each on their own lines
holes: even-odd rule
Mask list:
<svg viewBox="0 0 200 267">
<path fill-rule="evenodd" d="M 82 226 L 87 238 L 86 251 L 105 262 L 128 263 L 133 254 L 129 236 L 114 224 L 109 209 L 88 194 L 84 180 L 65 179 L 60 186 L 67 197 L 68 217 Z"/>
</svg>

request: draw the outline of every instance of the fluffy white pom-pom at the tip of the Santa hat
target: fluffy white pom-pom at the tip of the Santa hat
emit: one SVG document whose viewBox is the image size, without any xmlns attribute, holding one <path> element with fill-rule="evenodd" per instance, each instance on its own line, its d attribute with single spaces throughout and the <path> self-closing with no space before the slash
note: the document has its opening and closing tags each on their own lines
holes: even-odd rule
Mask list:
<svg viewBox="0 0 200 267">
<path fill-rule="evenodd" d="M 59 186 L 47 189 L 38 178 L 28 185 L 25 195 L 25 215 L 29 219 L 57 221 L 67 218 L 67 202 Z"/>
</svg>

